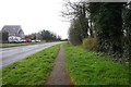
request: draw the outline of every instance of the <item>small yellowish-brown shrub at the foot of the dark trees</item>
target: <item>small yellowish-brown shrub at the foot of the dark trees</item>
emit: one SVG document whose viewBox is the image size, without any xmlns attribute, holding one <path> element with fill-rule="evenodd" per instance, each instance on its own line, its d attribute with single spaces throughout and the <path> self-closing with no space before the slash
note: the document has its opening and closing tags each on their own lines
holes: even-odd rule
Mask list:
<svg viewBox="0 0 131 87">
<path fill-rule="evenodd" d="M 96 38 L 85 38 L 85 39 L 83 39 L 82 46 L 83 46 L 83 48 L 85 48 L 87 50 L 96 51 L 97 50 Z"/>
</svg>

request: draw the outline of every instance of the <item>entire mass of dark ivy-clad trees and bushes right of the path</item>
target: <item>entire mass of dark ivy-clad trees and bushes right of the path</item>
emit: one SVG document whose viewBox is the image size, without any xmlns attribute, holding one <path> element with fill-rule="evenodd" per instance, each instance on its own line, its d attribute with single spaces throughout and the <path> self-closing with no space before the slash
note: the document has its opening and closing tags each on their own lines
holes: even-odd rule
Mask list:
<svg viewBox="0 0 131 87">
<path fill-rule="evenodd" d="M 69 3 L 74 15 L 69 29 L 72 45 L 82 44 L 85 37 L 95 37 L 97 51 L 128 61 L 131 57 L 131 2 Z"/>
</svg>

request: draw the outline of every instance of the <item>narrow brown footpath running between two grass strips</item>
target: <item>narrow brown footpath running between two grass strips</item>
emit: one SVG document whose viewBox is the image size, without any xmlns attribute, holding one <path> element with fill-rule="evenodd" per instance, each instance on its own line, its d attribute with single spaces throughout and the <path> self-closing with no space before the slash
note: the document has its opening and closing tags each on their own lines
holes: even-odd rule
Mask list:
<svg viewBox="0 0 131 87">
<path fill-rule="evenodd" d="M 53 63 L 53 69 L 46 85 L 72 85 L 66 67 L 64 49 L 60 47 L 59 54 Z"/>
</svg>

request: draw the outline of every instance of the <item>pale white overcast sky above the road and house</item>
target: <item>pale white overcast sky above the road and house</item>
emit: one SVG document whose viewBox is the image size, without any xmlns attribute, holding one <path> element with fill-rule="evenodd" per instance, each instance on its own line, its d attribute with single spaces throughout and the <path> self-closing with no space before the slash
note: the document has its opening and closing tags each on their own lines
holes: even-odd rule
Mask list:
<svg viewBox="0 0 131 87">
<path fill-rule="evenodd" d="M 25 35 L 48 29 L 68 37 L 70 23 L 62 22 L 63 0 L 0 0 L 0 28 L 21 25 Z"/>
</svg>

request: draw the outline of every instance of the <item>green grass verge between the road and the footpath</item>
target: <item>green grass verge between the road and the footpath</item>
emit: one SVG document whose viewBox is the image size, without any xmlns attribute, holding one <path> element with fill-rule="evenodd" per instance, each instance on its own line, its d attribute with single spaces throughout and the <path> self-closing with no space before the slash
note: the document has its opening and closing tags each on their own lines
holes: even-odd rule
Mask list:
<svg viewBox="0 0 131 87">
<path fill-rule="evenodd" d="M 59 46 L 37 52 L 2 70 L 3 85 L 44 85 L 52 70 Z"/>
</svg>

